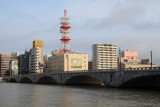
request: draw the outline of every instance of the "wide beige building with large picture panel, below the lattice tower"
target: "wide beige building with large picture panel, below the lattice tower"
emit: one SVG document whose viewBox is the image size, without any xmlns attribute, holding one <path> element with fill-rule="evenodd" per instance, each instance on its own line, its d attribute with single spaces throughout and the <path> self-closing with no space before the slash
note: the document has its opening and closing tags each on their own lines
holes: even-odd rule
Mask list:
<svg viewBox="0 0 160 107">
<path fill-rule="evenodd" d="M 78 53 L 57 54 L 48 59 L 48 72 L 88 70 L 88 55 Z"/>
</svg>

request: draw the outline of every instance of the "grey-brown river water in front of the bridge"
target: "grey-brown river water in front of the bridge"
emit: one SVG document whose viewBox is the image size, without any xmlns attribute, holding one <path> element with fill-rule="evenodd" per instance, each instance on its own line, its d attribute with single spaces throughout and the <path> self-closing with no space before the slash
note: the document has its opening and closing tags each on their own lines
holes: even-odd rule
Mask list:
<svg viewBox="0 0 160 107">
<path fill-rule="evenodd" d="M 0 107 L 160 107 L 160 90 L 0 83 Z"/>
</svg>

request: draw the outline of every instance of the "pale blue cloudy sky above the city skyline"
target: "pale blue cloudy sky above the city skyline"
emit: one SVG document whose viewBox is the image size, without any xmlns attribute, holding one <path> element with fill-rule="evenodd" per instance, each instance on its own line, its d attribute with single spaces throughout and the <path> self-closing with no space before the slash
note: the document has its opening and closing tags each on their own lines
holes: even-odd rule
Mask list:
<svg viewBox="0 0 160 107">
<path fill-rule="evenodd" d="M 92 44 L 117 44 L 160 65 L 160 0 L 0 0 L 0 53 L 61 47 L 60 17 L 71 17 L 71 49 L 92 58 Z"/>
</svg>

